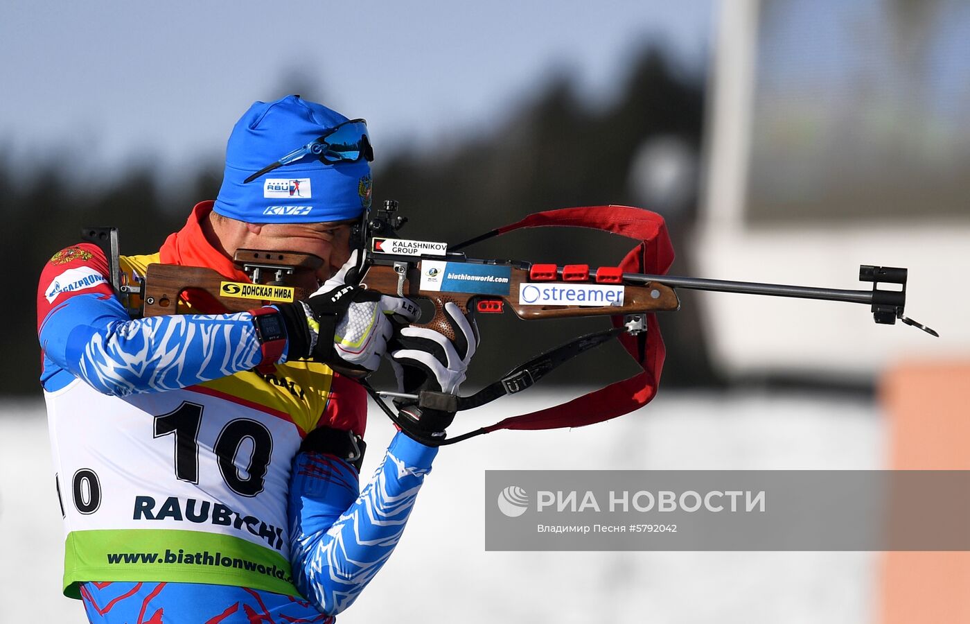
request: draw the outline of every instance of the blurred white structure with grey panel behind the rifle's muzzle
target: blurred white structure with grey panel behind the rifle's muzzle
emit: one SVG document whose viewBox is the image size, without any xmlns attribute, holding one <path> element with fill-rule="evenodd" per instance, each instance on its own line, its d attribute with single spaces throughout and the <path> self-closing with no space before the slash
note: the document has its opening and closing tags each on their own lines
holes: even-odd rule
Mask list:
<svg viewBox="0 0 970 624">
<path fill-rule="evenodd" d="M 722 2 L 714 46 L 700 277 L 869 289 L 907 267 L 906 314 L 709 294 L 728 375 L 867 379 L 903 357 L 970 353 L 970 12 L 960 3 Z"/>
</svg>

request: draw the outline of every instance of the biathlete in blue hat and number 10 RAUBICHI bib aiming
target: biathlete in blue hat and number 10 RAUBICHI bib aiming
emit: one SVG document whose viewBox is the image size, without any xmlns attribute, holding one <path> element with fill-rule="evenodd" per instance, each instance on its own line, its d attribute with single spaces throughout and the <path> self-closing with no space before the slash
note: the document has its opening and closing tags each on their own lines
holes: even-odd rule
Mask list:
<svg viewBox="0 0 970 624">
<path fill-rule="evenodd" d="M 370 160 L 363 120 L 257 102 L 216 200 L 158 251 L 120 257 L 132 283 L 159 262 L 245 282 L 239 248 L 310 253 L 323 264 L 304 301 L 222 313 L 188 291 L 192 313 L 131 318 L 98 246 L 50 258 L 38 334 L 63 587 L 91 622 L 333 621 L 400 540 L 436 448 L 399 432 L 360 489 L 366 394 L 331 365 L 372 371 L 401 340 L 405 377 L 455 392 L 477 332 L 453 306 L 457 344 L 404 327 L 412 302 L 344 283 Z M 408 417 L 442 435 L 453 415 Z"/>
</svg>

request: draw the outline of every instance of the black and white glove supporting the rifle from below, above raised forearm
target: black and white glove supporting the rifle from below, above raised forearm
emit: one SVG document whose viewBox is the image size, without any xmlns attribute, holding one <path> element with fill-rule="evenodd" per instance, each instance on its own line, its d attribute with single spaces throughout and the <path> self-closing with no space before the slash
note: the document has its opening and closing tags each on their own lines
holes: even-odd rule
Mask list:
<svg viewBox="0 0 970 624">
<path fill-rule="evenodd" d="M 458 394 L 478 346 L 478 327 L 471 314 L 463 314 L 454 303 L 444 305 L 444 315 L 455 334 L 454 341 L 422 327 L 404 327 L 398 332 L 390 358 L 399 391 Z M 396 399 L 394 404 L 417 432 L 433 438 L 444 438 L 445 428 L 455 418 L 454 411 L 422 407 L 414 399 Z M 406 428 L 404 433 L 408 433 Z"/>
</svg>

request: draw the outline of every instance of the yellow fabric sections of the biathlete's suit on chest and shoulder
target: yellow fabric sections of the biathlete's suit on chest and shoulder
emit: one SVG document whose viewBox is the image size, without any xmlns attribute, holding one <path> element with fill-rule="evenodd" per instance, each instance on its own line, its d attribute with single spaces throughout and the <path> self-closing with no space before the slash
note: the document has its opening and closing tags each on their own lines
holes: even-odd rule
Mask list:
<svg viewBox="0 0 970 624">
<path fill-rule="evenodd" d="M 158 264 L 159 254 L 121 256 L 119 264 L 134 283 L 135 275 L 145 276 L 149 264 Z M 141 306 L 137 295 L 132 296 L 130 305 Z M 190 308 L 185 302 L 179 306 Z M 275 372 L 262 375 L 245 371 L 225 378 L 201 384 L 214 394 L 224 395 L 228 400 L 262 407 L 274 412 L 276 416 L 291 420 L 301 431 L 301 435 L 314 429 L 327 406 L 334 372 L 326 364 L 296 360 L 277 364 Z"/>
</svg>

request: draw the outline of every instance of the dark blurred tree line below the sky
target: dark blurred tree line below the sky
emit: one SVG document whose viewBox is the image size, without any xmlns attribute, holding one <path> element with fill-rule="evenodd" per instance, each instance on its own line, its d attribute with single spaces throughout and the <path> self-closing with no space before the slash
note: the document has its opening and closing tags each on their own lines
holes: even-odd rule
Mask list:
<svg viewBox="0 0 970 624">
<path fill-rule="evenodd" d="M 314 99 L 307 89 L 302 92 Z M 651 137 L 674 136 L 696 154 L 702 118 L 700 79 L 677 71 L 660 50 L 648 49 L 631 66 L 619 96 L 598 109 L 584 105 L 573 82 L 563 75 L 497 127 L 471 132 L 464 139 L 439 137 L 434 153 L 385 155 L 376 146 L 373 197 L 375 203 L 385 199 L 401 203 L 401 213 L 410 219 L 402 232 L 405 238 L 451 244 L 537 211 L 600 204 L 637 206 L 630 181 L 637 149 Z M 122 182 L 110 188 L 84 191 L 72 185 L 59 167 L 45 166 L 24 187 L 13 183 L 9 167 L 0 161 L 5 251 L 15 269 L 8 274 L 8 293 L 34 297 L 45 262 L 54 251 L 78 242 L 82 226 L 117 227 L 122 253 L 156 250 L 181 227 L 195 202 L 215 198 L 222 169 L 221 163 L 212 163 L 184 184 L 187 190 L 174 207 L 162 205 L 158 182 L 146 168 L 127 172 Z M 695 217 L 695 179 L 691 188 L 679 206 L 666 207 L 670 210 L 664 214 L 679 254 L 673 274 L 691 273 L 684 239 Z M 556 230 L 516 232 L 470 247 L 469 255 L 599 266 L 615 264 L 632 246 L 629 240 L 602 233 Z M 667 344 L 663 383 L 716 382 L 692 293 L 681 294 L 682 311 L 664 313 L 661 319 Z M 34 300 L 29 306 L 3 306 L 0 315 L 8 330 L 6 352 L 13 355 L 0 359 L 0 392 L 36 396 L 40 349 Z M 510 313 L 480 315 L 482 350 L 475 358 L 471 383 L 490 382 L 540 349 L 597 331 L 606 322 L 598 318 L 536 323 Z M 577 360 L 551 376 L 550 382 L 605 383 L 638 370 L 619 345 L 604 345 Z"/>
</svg>

